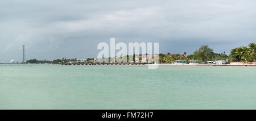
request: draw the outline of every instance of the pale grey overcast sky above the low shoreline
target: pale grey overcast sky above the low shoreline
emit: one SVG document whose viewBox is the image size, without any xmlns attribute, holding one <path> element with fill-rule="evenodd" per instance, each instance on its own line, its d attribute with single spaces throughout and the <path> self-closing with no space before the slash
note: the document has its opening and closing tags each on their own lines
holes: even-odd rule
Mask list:
<svg viewBox="0 0 256 121">
<path fill-rule="evenodd" d="M 0 0 L 0 61 L 97 57 L 97 45 L 159 43 L 160 53 L 214 52 L 256 41 L 254 0 Z M 128 44 L 127 44 L 128 45 Z"/>
</svg>

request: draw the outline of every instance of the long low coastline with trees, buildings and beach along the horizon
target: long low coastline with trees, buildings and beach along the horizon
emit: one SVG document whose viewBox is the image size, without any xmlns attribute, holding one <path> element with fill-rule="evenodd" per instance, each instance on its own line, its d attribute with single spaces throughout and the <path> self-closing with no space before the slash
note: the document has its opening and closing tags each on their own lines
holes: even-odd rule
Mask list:
<svg viewBox="0 0 256 121">
<path fill-rule="evenodd" d="M 126 55 L 122 57 L 109 57 L 109 59 L 56 59 L 56 60 L 36 60 L 31 59 L 21 64 L 61 64 L 61 65 L 144 65 L 144 64 L 160 64 L 160 65 L 255 65 L 255 43 L 250 43 L 247 47 L 237 47 L 230 51 L 229 55 L 225 52 L 215 53 L 208 45 L 202 45 L 199 49 L 196 49 L 192 55 L 187 55 L 184 52 L 182 55 L 179 53 L 171 54 L 170 52 L 158 55 Z M 105 61 L 103 61 L 105 60 Z M 107 61 L 106 61 L 107 60 Z"/>
</svg>

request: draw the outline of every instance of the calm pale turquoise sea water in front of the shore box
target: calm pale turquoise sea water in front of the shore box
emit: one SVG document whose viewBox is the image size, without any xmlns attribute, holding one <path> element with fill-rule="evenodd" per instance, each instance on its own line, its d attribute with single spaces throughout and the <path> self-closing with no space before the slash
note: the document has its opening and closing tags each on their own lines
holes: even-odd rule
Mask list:
<svg viewBox="0 0 256 121">
<path fill-rule="evenodd" d="M 0 64 L 0 109 L 256 109 L 249 66 Z"/>
</svg>

